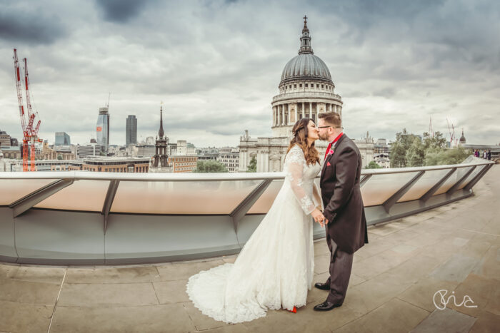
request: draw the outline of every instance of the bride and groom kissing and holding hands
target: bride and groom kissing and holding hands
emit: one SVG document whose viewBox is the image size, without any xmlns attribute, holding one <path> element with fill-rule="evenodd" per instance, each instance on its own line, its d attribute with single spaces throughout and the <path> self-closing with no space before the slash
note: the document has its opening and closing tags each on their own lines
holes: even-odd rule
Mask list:
<svg viewBox="0 0 500 333">
<path fill-rule="evenodd" d="M 368 243 L 361 155 L 342 132 L 338 113 L 318 118 L 318 125 L 302 118 L 292 128 L 283 186 L 234 264 L 189 277 L 186 292 L 203 314 L 236 324 L 264 317 L 268 309 L 304 307 L 314 275 L 313 220 L 325 227 L 331 253 L 330 277 L 314 285 L 328 294 L 314 310 L 344 302 L 354 252 Z M 314 146 L 318 139 L 329 142 L 321 158 Z M 321 191 L 314 183 L 320 171 Z"/>
</svg>

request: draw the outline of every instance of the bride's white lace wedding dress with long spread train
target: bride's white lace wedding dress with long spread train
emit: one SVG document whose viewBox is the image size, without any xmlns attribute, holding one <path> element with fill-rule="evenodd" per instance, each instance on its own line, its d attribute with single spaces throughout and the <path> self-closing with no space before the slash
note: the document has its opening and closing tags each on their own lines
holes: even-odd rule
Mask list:
<svg viewBox="0 0 500 333">
<path fill-rule="evenodd" d="M 186 292 L 203 314 L 238 323 L 264 317 L 267 309 L 291 310 L 306 304 L 314 275 L 310 214 L 321 205 L 314 185 L 319 170 L 319 163 L 306 165 L 299 145 L 291 148 L 284 184 L 234 264 L 189 278 Z"/>
</svg>

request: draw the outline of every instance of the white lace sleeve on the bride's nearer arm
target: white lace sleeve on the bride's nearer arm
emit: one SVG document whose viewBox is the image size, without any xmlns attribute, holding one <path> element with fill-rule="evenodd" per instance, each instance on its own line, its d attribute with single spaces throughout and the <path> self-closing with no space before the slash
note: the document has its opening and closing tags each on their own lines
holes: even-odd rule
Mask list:
<svg viewBox="0 0 500 333">
<path fill-rule="evenodd" d="M 299 200 L 302 210 L 306 214 L 311 214 L 315 206 L 311 198 L 306 194 L 304 188 L 302 188 L 302 174 L 304 172 L 304 152 L 298 146 L 291 148 L 289 153 L 286 155 L 285 167 L 286 175 L 285 177 L 290 181 L 291 190 L 293 190 L 295 197 Z"/>
</svg>

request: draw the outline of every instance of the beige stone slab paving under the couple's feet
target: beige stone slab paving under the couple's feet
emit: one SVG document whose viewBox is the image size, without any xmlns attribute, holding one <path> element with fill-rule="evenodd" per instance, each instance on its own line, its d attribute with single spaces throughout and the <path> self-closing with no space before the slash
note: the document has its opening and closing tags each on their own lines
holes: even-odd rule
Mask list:
<svg viewBox="0 0 500 333">
<path fill-rule="evenodd" d="M 344 305 L 331 312 L 313 311 L 326 298 L 313 288 L 296 314 L 269 311 L 241 324 L 204 316 L 189 302 L 187 279 L 236 256 L 116 267 L 0 264 L 0 332 L 498 332 L 499 165 L 474 192 L 369 227 L 370 243 L 354 255 Z M 314 282 L 324 282 L 324 239 L 314 250 Z M 446 309 L 433 302 L 439 290 L 446 291 Z"/>
</svg>

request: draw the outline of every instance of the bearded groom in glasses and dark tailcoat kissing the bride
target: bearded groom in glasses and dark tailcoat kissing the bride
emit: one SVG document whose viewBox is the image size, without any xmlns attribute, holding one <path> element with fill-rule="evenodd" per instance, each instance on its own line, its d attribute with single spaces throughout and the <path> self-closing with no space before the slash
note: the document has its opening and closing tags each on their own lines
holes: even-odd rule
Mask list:
<svg viewBox="0 0 500 333">
<path fill-rule="evenodd" d="M 321 140 L 329 141 L 321 170 L 321 197 L 326 224 L 326 243 L 330 250 L 330 277 L 314 287 L 329 290 L 326 301 L 316 311 L 340 307 L 346 297 L 354 252 L 368 243 L 363 199 L 359 190 L 361 154 L 356 144 L 342 133 L 338 113 L 320 113 Z M 323 225 L 321 225 L 323 226 Z"/>
</svg>

